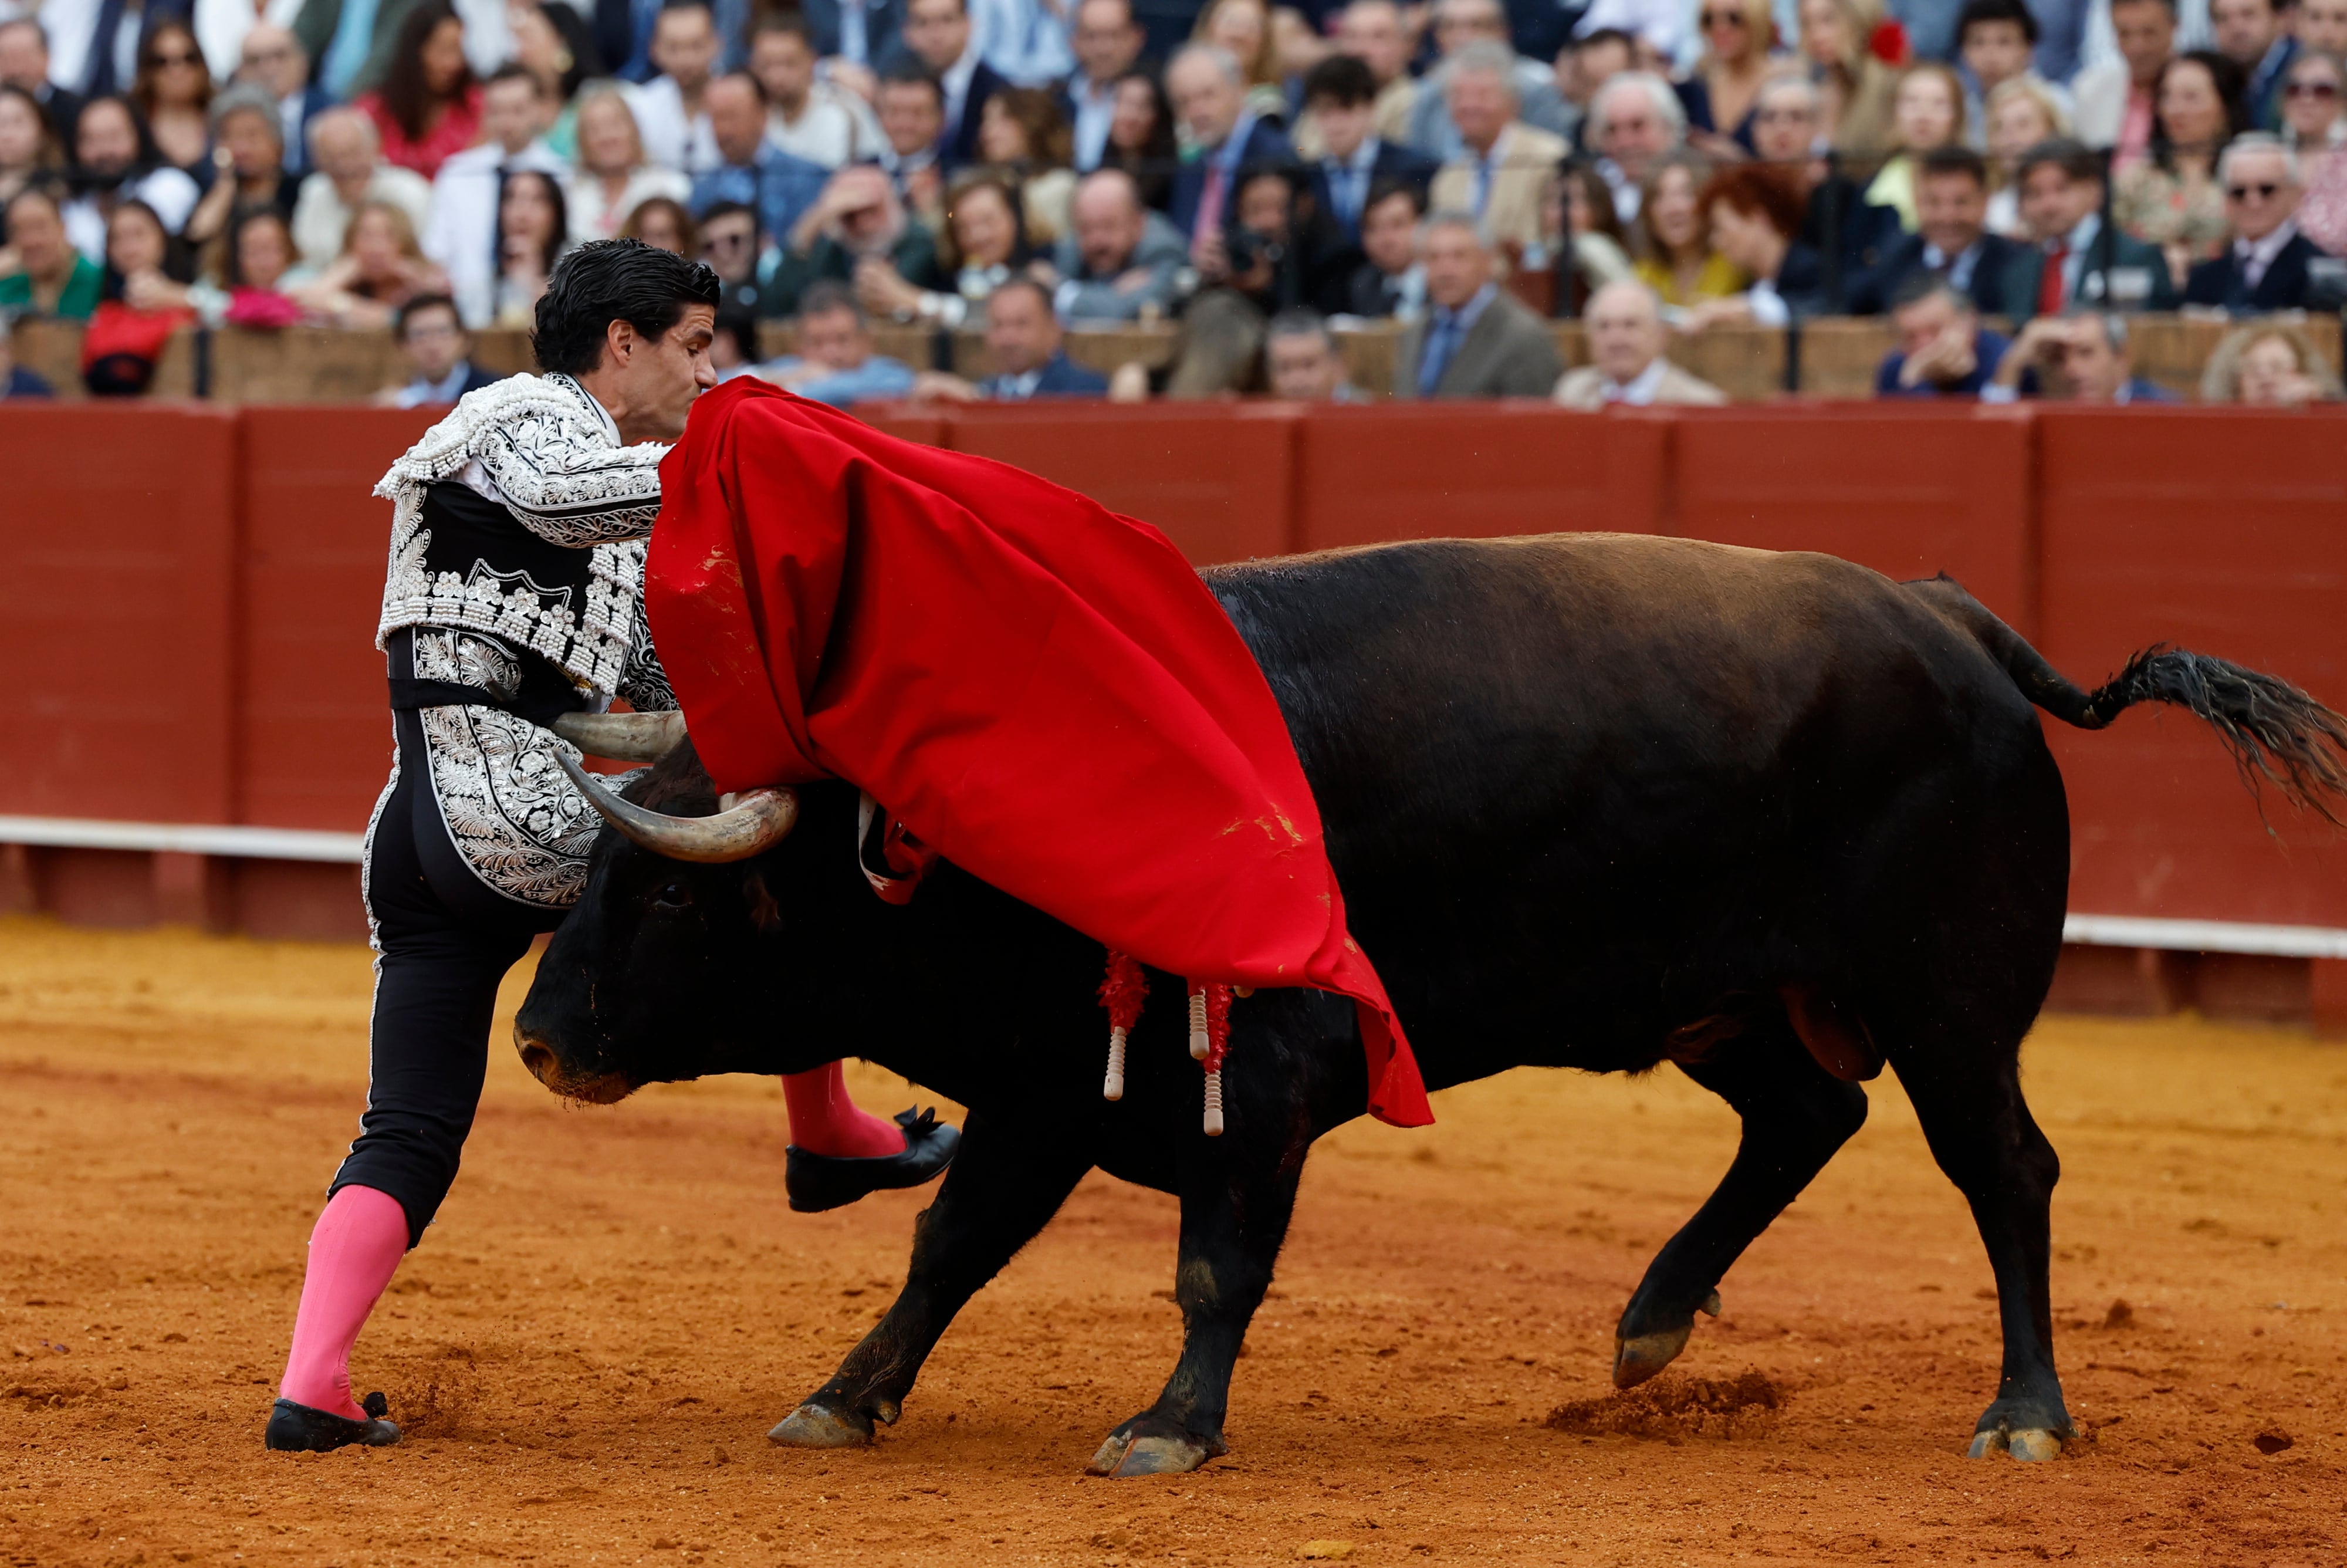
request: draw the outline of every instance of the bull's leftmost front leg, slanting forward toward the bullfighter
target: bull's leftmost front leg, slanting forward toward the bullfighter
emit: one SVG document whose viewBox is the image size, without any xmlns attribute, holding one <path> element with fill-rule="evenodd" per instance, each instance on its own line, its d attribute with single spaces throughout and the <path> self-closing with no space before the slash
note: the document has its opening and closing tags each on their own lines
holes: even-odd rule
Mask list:
<svg viewBox="0 0 2347 1568">
<path fill-rule="evenodd" d="M 831 1383 L 782 1418 L 767 1439 L 786 1448 L 852 1448 L 873 1422 L 897 1422 L 929 1350 L 962 1303 L 1035 1239 L 1091 1169 L 1068 1122 L 1037 1124 L 972 1110 L 936 1202 L 913 1223 L 904 1291 L 847 1352 Z"/>
</svg>

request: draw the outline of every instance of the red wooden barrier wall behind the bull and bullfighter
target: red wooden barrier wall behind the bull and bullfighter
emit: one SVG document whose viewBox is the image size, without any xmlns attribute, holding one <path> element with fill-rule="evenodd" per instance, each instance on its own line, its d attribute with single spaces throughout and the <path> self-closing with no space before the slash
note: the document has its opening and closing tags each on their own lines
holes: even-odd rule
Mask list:
<svg viewBox="0 0 2347 1568">
<path fill-rule="evenodd" d="M 1948 570 L 2082 683 L 2176 641 L 2347 702 L 2347 418 L 1544 404 L 885 411 L 1150 519 L 1192 561 L 1563 528 Z M 0 812 L 357 831 L 390 730 L 390 509 L 427 415 L 0 413 Z M 2347 847 L 2265 836 L 2176 714 L 2056 730 L 2072 906 L 2347 927 Z"/>
</svg>

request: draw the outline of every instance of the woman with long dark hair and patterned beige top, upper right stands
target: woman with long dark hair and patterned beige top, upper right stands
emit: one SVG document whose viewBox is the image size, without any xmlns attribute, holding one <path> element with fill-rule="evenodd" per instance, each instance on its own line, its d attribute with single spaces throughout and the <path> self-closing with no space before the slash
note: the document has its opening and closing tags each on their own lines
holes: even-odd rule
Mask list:
<svg viewBox="0 0 2347 1568">
<path fill-rule="evenodd" d="M 2239 110 L 2241 68 L 2223 54 L 2178 54 L 2159 73 L 2150 160 L 2119 171 L 2110 211 L 2131 237 L 2166 256 L 2166 279 L 2183 289 L 2197 261 L 2223 254 L 2225 192 L 2216 160 L 2251 129 Z"/>
</svg>

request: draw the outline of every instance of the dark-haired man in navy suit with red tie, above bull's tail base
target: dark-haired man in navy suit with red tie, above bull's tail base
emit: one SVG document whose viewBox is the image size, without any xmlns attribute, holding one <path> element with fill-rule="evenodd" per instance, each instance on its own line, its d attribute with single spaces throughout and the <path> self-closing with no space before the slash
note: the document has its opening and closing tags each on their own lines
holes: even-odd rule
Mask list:
<svg viewBox="0 0 2347 1568">
<path fill-rule="evenodd" d="M 2072 305 L 2176 310 L 2159 246 L 2103 223 L 2103 160 L 2075 141 L 2040 141 L 2021 155 L 2021 221 L 2035 244 L 2004 270 L 2004 315 L 2054 317 Z"/>
</svg>

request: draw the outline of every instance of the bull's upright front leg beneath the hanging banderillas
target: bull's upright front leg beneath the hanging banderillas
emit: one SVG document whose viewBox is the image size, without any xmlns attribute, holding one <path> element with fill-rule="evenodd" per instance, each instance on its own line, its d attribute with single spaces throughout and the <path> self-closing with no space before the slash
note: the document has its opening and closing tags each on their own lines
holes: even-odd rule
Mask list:
<svg viewBox="0 0 2347 1568">
<path fill-rule="evenodd" d="M 1235 1124 L 1227 1138 L 1197 1138 L 1181 1162 L 1181 1263 L 1174 1300 L 1183 1347 L 1164 1392 L 1101 1444 L 1087 1465 L 1096 1476 L 1155 1476 L 1197 1469 L 1230 1453 L 1223 1415 L 1230 1371 L 1246 1324 L 1272 1284 L 1279 1244 L 1296 1211 L 1305 1134 L 1293 1148 L 1251 1150 Z"/>
</svg>

